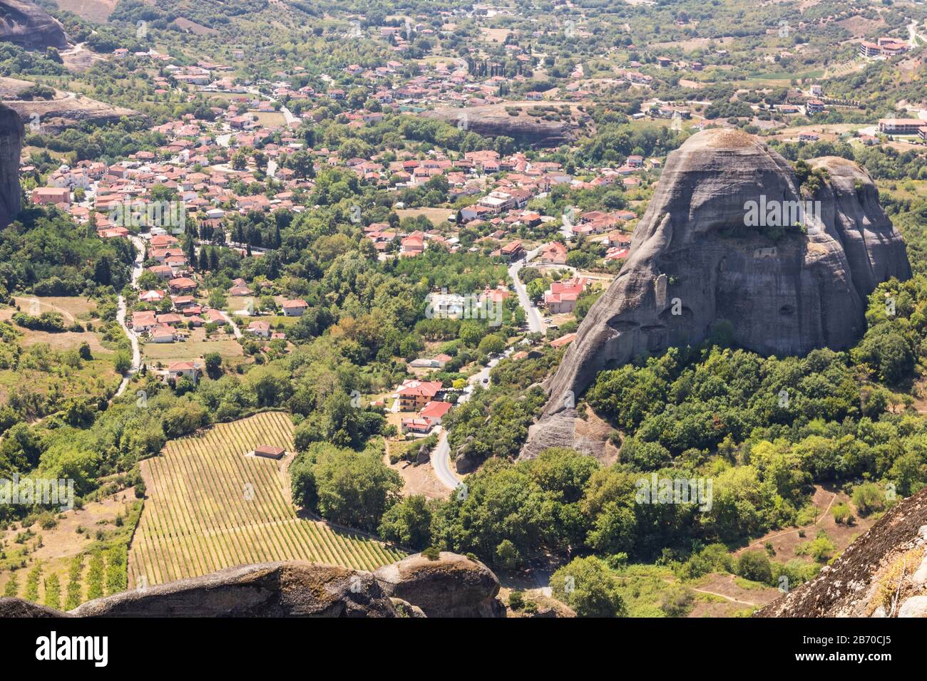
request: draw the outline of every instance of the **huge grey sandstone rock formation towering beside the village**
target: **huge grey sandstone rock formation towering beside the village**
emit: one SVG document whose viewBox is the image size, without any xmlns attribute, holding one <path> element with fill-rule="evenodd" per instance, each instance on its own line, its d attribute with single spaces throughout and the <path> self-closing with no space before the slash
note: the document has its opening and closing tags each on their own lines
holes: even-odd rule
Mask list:
<svg viewBox="0 0 927 681">
<path fill-rule="evenodd" d="M 812 197 L 819 216 L 809 211 L 807 233 L 773 241 L 768 230 L 745 226 L 745 207 L 805 200 L 788 161 L 745 132 L 720 129 L 692 135 L 669 155 L 628 261 L 546 385 L 551 399 L 523 458 L 554 446 L 599 453 L 601 443 L 575 435 L 573 408 L 596 374 L 700 343 L 721 320 L 732 324 L 735 343 L 764 355 L 857 340 L 876 284 L 910 277 L 907 251 L 864 170 L 844 158 L 809 165 L 828 173 Z"/>
</svg>

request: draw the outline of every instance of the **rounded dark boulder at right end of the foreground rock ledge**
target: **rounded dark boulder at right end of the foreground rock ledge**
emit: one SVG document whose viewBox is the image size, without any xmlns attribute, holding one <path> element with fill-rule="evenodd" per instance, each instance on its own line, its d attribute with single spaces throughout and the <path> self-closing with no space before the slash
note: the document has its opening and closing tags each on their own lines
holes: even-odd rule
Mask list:
<svg viewBox="0 0 927 681">
<path fill-rule="evenodd" d="M 502 617 L 499 580 L 486 565 L 441 551 L 436 561 L 417 553 L 375 572 L 387 596 L 418 606 L 428 617 Z"/>
</svg>

